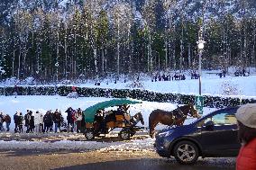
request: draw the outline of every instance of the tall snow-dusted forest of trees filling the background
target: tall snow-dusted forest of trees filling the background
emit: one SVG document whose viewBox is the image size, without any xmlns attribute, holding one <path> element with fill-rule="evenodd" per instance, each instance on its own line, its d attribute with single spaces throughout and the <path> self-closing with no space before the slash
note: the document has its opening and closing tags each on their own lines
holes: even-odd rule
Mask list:
<svg viewBox="0 0 256 170">
<path fill-rule="evenodd" d="M 256 67 L 256 9 L 249 13 L 250 1 L 240 1 L 239 17 L 225 10 L 224 0 L 218 0 L 217 15 L 209 14 L 212 4 L 206 0 L 198 2 L 197 14 L 178 8 L 177 0 L 120 0 L 107 7 L 107 0 L 69 1 L 62 8 L 57 0 L 49 0 L 49 6 L 32 2 L 0 6 L 0 78 L 83 79 L 197 69 L 200 27 L 204 69 Z"/>
</svg>

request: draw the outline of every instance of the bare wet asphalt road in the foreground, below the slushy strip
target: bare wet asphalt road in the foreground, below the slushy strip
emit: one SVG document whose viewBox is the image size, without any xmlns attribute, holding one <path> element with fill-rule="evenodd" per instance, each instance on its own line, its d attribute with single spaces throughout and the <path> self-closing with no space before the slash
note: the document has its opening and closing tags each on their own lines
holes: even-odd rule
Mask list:
<svg viewBox="0 0 256 170">
<path fill-rule="evenodd" d="M 1 170 L 88 169 L 88 170 L 234 170 L 234 158 L 199 159 L 194 166 L 180 166 L 154 151 L 44 152 L 16 150 L 0 152 Z"/>
</svg>

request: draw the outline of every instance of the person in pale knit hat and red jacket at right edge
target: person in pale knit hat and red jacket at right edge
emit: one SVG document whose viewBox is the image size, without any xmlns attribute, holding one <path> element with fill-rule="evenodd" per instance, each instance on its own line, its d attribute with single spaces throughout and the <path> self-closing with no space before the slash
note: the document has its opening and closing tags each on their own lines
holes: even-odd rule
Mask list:
<svg viewBox="0 0 256 170">
<path fill-rule="evenodd" d="M 242 144 L 236 170 L 256 169 L 256 103 L 242 105 L 236 112 L 238 139 Z"/>
</svg>

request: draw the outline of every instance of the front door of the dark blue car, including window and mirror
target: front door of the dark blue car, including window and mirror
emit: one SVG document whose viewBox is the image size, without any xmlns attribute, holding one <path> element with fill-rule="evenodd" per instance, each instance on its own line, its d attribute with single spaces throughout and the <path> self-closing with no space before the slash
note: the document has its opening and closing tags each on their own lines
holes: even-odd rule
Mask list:
<svg viewBox="0 0 256 170">
<path fill-rule="evenodd" d="M 237 138 L 237 125 L 234 112 L 218 112 L 205 121 L 213 121 L 212 128 L 203 126 L 201 128 L 200 143 L 203 152 L 209 156 L 228 157 L 238 154 L 240 144 Z"/>
</svg>

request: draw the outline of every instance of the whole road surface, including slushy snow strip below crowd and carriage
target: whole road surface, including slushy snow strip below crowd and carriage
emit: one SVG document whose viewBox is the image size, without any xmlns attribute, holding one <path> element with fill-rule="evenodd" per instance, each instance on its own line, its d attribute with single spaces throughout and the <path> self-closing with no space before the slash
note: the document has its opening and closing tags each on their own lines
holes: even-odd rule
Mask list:
<svg viewBox="0 0 256 170">
<path fill-rule="evenodd" d="M 154 139 L 134 136 L 129 141 L 110 135 L 87 141 L 74 133 L 0 133 L 1 170 L 234 170 L 235 158 L 199 158 L 194 166 L 180 166 L 174 158 L 159 157 Z"/>
</svg>

